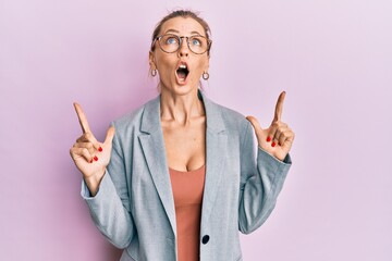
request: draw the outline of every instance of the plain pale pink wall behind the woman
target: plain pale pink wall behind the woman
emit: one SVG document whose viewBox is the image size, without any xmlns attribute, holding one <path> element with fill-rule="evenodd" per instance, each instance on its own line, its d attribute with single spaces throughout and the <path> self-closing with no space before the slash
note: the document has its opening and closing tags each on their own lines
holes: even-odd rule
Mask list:
<svg viewBox="0 0 392 261">
<path fill-rule="evenodd" d="M 72 102 L 102 139 L 154 98 L 150 35 L 177 7 L 212 28 L 212 100 L 267 126 L 287 91 L 294 165 L 245 260 L 391 260 L 390 0 L 0 0 L 0 259 L 119 256 L 79 197 Z"/>
</svg>

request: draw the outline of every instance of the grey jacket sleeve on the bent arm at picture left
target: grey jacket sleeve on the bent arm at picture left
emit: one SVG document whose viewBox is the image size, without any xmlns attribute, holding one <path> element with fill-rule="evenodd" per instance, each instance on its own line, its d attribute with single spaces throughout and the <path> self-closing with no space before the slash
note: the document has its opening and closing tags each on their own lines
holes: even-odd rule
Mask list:
<svg viewBox="0 0 392 261">
<path fill-rule="evenodd" d="M 131 214 L 124 161 L 117 135 L 113 138 L 110 163 L 97 195 L 90 197 L 84 181 L 81 194 L 89 208 L 94 223 L 103 236 L 115 247 L 126 248 L 135 234 L 135 225 Z"/>
</svg>

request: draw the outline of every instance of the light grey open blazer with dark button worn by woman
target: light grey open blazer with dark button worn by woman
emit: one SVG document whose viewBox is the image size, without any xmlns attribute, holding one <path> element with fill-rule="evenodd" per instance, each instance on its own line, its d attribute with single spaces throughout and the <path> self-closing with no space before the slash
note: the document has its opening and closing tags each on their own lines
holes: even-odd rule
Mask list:
<svg viewBox="0 0 392 261">
<path fill-rule="evenodd" d="M 258 228 L 274 208 L 290 157 L 281 162 L 262 149 L 240 113 L 199 92 L 206 117 L 206 179 L 200 224 L 201 261 L 242 260 L 238 231 Z M 175 208 L 160 124 L 160 97 L 113 123 L 110 163 L 99 191 L 82 196 L 99 231 L 121 260 L 175 261 Z"/>
</svg>

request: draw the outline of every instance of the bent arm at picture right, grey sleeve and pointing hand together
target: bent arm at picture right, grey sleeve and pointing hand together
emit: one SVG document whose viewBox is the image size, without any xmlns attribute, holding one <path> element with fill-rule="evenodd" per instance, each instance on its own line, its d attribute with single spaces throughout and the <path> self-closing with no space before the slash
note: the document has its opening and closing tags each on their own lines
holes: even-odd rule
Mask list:
<svg viewBox="0 0 392 261">
<path fill-rule="evenodd" d="M 250 124 L 243 130 L 238 229 L 245 234 L 252 233 L 268 219 L 291 166 L 287 153 L 294 133 L 287 124 L 281 122 L 284 96 L 285 92 L 279 96 L 274 116 L 268 128 L 262 129 L 255 117 L 247 117 L 258 140 L 256 162 Z"/>
</svg>

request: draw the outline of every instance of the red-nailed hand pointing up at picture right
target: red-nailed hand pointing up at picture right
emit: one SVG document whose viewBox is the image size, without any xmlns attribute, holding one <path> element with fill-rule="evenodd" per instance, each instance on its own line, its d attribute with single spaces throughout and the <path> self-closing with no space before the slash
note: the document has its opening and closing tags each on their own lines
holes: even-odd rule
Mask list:
<svg viewBox="0 0 392 261">
<path fill-rule="evenodd" d="M 281 161 L 289 153 L 295 136 L 289 125 L 281 122 L 284 97 L 285 91 L 282 91 L 277 101 L 273 121 L 268 128 L 261 128 L 256 117 L 246 117 L 255 129 L 258 146 Z"/>
</svg>

